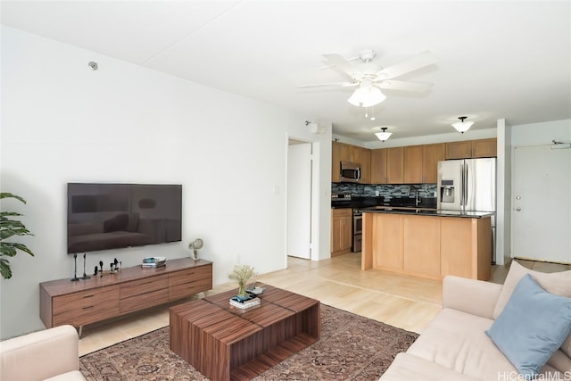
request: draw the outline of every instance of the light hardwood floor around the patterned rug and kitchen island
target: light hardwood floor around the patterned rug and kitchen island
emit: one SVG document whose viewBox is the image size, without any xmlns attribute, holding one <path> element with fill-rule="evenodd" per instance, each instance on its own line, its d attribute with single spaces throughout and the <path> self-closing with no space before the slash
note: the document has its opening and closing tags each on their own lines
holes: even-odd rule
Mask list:
<svg viewBox="0 0 571 381">
<path fill-rule="evenodd" d="M 345 254 L 324 261 L 289 257 L 287 262 L 287 269 L 261 275 L 256 281 L 418 333 L 441 310 L 442 281 L 377 269 L 361 271 L 360 253 Z M 544 272 L 570 268 L 552 263 L 519 262 L 527 268 Z M 491 281 L 503 283 L 508 269 L 509 265 L 492 266 Z M 218 294 L 233 288 L 236 288 L 236 284 L 228 282 L 214 286 L 208 294 Z M 201 296 L 203 294 L 199 295 Z M 84 327 L 83 338 L 79 340 L 79 355 L 167 327 L 169 307 L 166 305 Z"/>
</svg>

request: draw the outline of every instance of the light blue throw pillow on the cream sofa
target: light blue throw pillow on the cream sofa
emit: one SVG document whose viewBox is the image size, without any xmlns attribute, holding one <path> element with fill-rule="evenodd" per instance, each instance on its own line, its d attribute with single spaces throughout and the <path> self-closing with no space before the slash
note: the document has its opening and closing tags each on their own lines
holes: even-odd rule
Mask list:
<svg viewBox="0 0 571 381">
<path fill-rule="evenodd" d="M 571 331 L 571 298 L 550 294 L 529 274 L 485 331 L 525 379 L 534 379 Z"/>
</svg>

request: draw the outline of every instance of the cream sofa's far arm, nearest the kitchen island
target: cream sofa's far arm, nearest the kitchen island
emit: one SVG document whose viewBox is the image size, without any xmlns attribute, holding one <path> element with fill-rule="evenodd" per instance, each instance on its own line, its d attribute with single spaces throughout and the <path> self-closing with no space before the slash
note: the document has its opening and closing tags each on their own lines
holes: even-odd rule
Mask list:
<svg viewBox="0 0 571 381">
<path fill-rule="evenodd" d="M 451 308 L 482 318 L 493 319 L 493 309 L 500 296 L 501 285 L 466 277 L 443 279 L 443 308 Z"/>
</svg>

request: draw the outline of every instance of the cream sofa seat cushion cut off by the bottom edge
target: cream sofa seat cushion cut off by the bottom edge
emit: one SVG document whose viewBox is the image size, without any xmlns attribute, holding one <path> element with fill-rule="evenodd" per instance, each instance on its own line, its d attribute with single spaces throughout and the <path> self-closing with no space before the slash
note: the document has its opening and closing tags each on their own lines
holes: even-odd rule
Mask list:
<svg viewBox="0 0 571 381">
<path fill-rule="evenodd" d="M 409 353 L 399 353 L 379 381 L 476 381 L 477 378 L 459 375 L 434 362 Z"/>
</svg>

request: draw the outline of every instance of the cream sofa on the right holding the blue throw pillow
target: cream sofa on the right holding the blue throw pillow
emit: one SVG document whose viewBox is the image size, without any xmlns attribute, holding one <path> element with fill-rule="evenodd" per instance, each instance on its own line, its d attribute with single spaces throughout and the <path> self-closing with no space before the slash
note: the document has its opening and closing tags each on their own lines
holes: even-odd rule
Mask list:
<svg viewBox="0 0 571 381">
<path fill-rule="evenodd" d="M 538 273 L 512 262 L 504 285 L 462 277 L 443 279 L 443 310 L 382 381 L 517 381 L 518 370 L 486 335 L 517 282 L 529 273 L 550 293 L 571 296 L 571 271 Z M 571 335 L 542 367 L 537 379 L 571 380 Z"/>
</svg>

